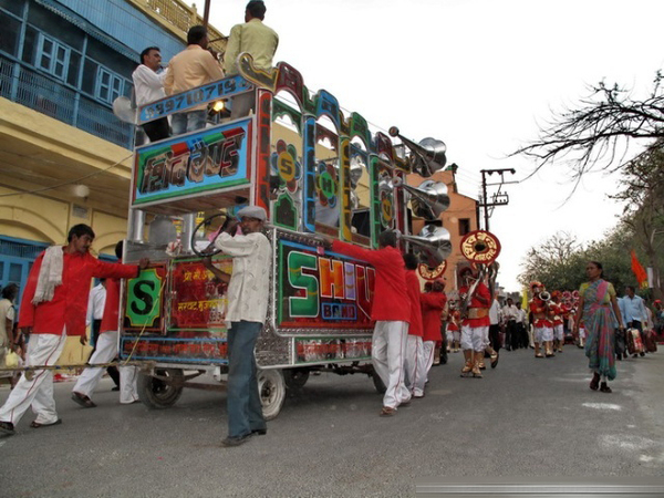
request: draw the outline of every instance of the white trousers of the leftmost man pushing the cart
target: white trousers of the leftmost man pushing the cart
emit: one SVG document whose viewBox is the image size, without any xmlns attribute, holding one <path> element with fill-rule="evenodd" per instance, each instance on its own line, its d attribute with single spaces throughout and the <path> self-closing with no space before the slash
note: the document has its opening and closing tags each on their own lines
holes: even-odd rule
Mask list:
<svg viewBox="0 0 664 498">
<path fill-rule="evenodd" d="M 62 331 L 62 335 L 32 334 L 28 343 L 27 366 L 54 365 L 64 349 L 65 342 L 65 330 Z M 32 380 L 29 381 L 30 374 L 32 374 Z M 0 408 L 0 421 L 17 424 L 31 405 L 32 412 L 37 414 L 34 422 L 38 424 L 58 422 L 55 400 L 53 400 L 52 370 L 23 372 L 18 384 L 9 394 L 7 402 Z"/>
</svg>

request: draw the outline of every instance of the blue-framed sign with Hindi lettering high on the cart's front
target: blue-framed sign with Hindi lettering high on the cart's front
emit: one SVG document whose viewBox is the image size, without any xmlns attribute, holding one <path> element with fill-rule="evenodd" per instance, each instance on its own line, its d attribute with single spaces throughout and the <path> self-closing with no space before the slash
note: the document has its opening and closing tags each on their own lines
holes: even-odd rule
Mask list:
<svg viewBox="0 0 664 498">
<path fill-rule="evenodd" d="M 133 204 L 249 184 L 251 124 L 247 118 L 136 148 Z"/>
</svg>

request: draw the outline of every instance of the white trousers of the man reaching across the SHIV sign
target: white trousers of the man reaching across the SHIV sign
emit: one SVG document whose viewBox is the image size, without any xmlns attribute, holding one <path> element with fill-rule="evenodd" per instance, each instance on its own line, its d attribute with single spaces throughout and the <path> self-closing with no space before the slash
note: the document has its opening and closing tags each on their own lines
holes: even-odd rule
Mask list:
<svg viewBox="0 0 664 498">
<path fill-rule="evenodd" d="M 371 359 L 374 370 L 387 387 L 383 406 L 396 408 L 411 400 L 411 393 L 404 384 L 407 336 L 407 322 L 381 320 L 374 328 Z"/>
</svg>

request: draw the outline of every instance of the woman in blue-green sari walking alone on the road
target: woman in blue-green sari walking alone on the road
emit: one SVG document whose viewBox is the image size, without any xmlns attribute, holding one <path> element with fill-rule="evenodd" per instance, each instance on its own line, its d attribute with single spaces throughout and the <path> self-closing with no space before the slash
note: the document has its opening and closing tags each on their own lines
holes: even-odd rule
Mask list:
<svg viewBox="0 0 664 498">
<path fill-rule="evenodd" d="M 610 393 L 611 387 L 606 383 L 613 381 L 616 374 L 613 351 L 615 329 L 624 329 L 624 324 L 615 300 L 615 290 L 602 278 L 602 264 L 590 261 L 585 267 L 585 274 L 589 281 L 582 283 L 579 289 L 579 309 L 582 312 L 577 314 L 574 331 L 579 332 L 579 323 L 583 321 L 585 355 L 589 359 L 589 367 L 593 371 L 590 388 Z"/>
</svg>

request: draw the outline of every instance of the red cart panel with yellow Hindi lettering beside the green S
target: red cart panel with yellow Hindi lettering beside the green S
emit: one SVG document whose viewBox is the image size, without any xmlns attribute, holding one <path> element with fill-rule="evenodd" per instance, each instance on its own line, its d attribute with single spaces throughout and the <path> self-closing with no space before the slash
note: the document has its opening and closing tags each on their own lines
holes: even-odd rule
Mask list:
<svg viewBox="0 0 664 498">
<path fill-rule="evenodd" d="M 200 259 L 176 260 L 170 272 L 170 324 L 168 330 L 224 329 L 228 307 L 228 284 L 215 280 Z M 232 272 L 232 259 L 225 256 L 214 260 L 225 273 Z"/>
</svg>

